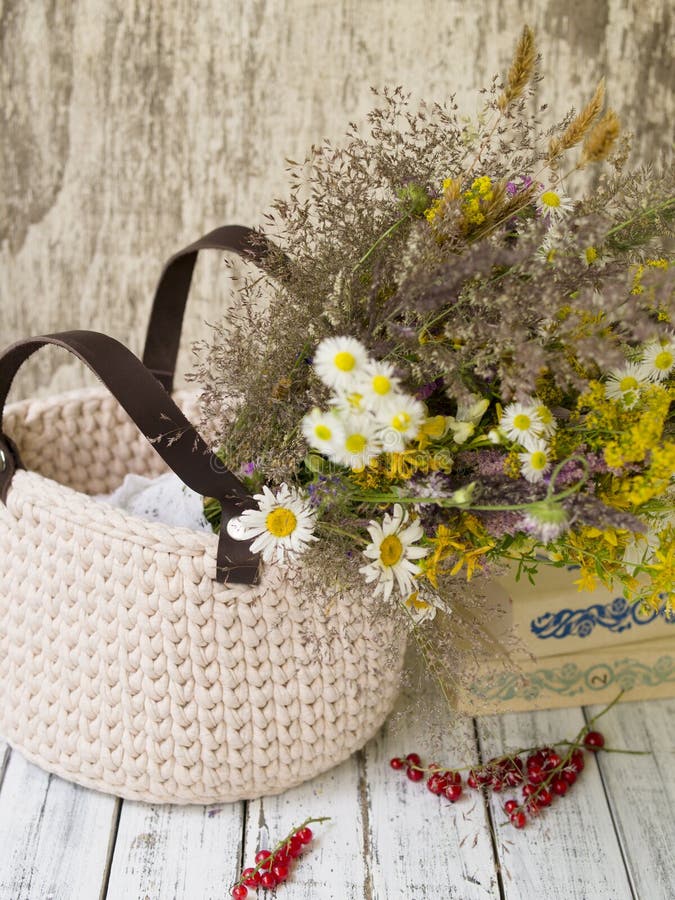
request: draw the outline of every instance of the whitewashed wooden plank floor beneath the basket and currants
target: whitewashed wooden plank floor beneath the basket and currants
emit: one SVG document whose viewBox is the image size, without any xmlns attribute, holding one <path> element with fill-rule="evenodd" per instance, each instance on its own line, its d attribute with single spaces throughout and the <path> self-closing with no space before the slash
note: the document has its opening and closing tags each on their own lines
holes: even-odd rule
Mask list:
<svg viewBox="0 0 675 900">
<path fill-rule="evenodd" d="M 430 749 L 422 706 L 408 705 L 334 771 L 247 804 L 122 802 L 46 775 L 0 742 L 0 900 L 224 900 L 242 859 L 250 864 L 260 846 L 323 815 L 331 821 L 316 826 L 290 880 L 259 897 L 675 897 L 675 700 L 610 710 L 599 724 L 608 745 L 651 754 L 588 755 L 574 789 L 522 831 L 504 824 L 504 795 L 484 803 L 472 792 L 453 806 L 388 760 L 417 750 L 466 765 L 571 739 L 599 709 L 441 722 Z"/>
</svg>

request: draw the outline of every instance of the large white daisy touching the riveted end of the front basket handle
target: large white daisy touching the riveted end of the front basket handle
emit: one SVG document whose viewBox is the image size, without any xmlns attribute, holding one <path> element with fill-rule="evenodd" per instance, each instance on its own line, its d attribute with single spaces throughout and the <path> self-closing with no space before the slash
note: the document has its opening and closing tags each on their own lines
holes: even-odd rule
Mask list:
<svg viewBox="0 0 675 900">
<path fill-rule="evenodd" d="M 286 566 L 296 561 L 316 541 L 314 526 L 316 512 L 307 497 L 296 488 L 282 484 L 276 494 L 263 487 L 254 497 L 258 509 L 246 509 L 239 516 L 242 540 L 251 540 L 253 553 L 260 553 L 267 563 Z"/>
</svg>

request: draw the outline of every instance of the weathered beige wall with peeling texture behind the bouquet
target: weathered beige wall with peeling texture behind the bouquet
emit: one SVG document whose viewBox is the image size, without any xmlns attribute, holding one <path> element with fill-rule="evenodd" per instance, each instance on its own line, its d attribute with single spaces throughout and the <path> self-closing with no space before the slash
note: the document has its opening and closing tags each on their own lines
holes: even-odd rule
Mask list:
<svg viewBox="0 0 675 900">
<path fill-rule="evenodd" d="M 454 91 L 471 114 L 524 22 L 551 119 L 606 74 L 636 158 L 654 159 L 672 18 L 669 0 L 0 0 L 0 344 L 86 327 L 139 350 L 171 252 L 259 224 L 284 158 L 363 121 L 371 85 Z M 186 347 L 227 296 L 222 260 L 200 262 Z M 84 380 L 44 351 L 14 396 Z"/>
</svg>

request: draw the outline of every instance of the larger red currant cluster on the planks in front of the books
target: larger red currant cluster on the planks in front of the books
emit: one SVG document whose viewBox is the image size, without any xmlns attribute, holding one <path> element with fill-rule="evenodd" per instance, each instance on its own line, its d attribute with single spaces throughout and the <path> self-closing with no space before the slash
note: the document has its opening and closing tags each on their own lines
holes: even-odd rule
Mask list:
<svg viewBox="0 0 675 900">
<path fill-rule="evenodd" d="M 579 738 L 583 738 L 583 744 Z M 466 786 L 500 793 L 505 788 L 522 785 L 522 801 L 507 800 L 504 811 L 515 828 L 524 828 L 528 814 L 536 815 L 550 806 L 555 797 L 564 797 L 577 780 L 584 768 L 582 746 L 595 752 L 605 746 L 605 739 L 599 731 L 584 729 L 576 741 L 562 741 L 556 746 L 567 749 L 558 753 L 554 747 L 533 748 L 525 758 L 520 754 L 527 751 L 518 751 L 474 766 L 467 775 Z M 405 759 L 394 757 L 389 765 L 392 769 L 405 770 L 411 781 L 426 778 L 432 794 L 446 797 L 452 803 L 462 796 L 462 776 L 456 769 L 444 769 L 438 763 L 425 768 L 417 753 L 409 753 Z"/>
</svg>

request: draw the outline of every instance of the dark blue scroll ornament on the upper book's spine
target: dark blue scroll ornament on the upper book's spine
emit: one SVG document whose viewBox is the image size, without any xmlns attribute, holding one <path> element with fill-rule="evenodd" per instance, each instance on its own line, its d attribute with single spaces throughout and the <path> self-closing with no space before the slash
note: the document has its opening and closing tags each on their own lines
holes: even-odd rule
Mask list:
<svg viewBox="0 0 675 900">
<path fill-rule="evenodd" d="M 656 610 L 640 603 L 629 603 L 625 597 L 617 597 L 611 603 L 596 603 L 585 609 L 560 609 L 556 613 L 544 613 L 530 622 L 530 630 L 541 639 L 584 638 L 595 628 L 606 628 L 618 634 L 633 625 L 649 625 L 657 618 L 675 625 L 675 615 L 667 612 L 665 603 Z"/>
</svg>

